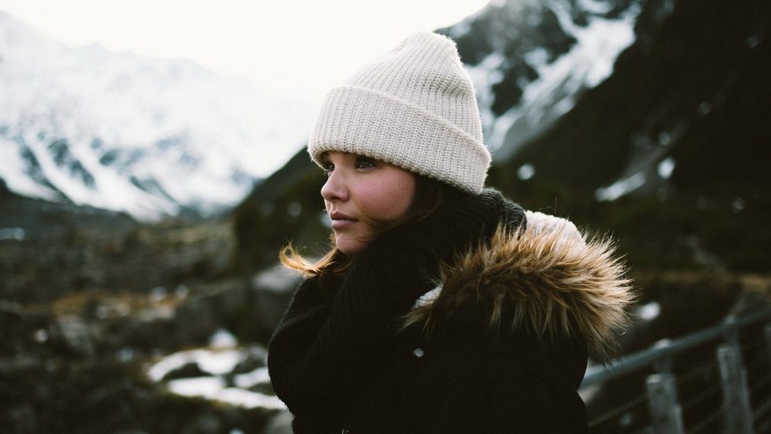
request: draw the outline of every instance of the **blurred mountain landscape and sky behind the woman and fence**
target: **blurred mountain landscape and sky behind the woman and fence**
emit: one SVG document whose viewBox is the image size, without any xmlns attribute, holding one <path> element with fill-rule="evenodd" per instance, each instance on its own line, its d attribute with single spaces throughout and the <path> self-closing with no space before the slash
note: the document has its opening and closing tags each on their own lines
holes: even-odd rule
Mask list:
<svg viewBox="0 0 771 434">
<path fill-rule="evenodd" d="M 276 253 L 330 231 L 304 140 L 417 30 L 458 44 L 487 185 L 617 240 L 625 352 L 768 304 L 767 0 L 59 3 L 0 0 L 2 432 L 289 432 Z"/>
</svg>

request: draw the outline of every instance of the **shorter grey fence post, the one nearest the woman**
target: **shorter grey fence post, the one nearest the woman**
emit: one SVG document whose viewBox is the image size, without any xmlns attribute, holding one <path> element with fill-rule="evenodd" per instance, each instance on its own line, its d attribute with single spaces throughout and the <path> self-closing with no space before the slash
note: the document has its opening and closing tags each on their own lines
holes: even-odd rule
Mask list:
<svg viewBox="0 0 771 434">
<path fill-rule="evenodd" d="M 654 374 L 648 376 L 648 407 L 654 434 L 682 434 L 682 411 L 677 402 L 674 376 Z"/>
</svg>

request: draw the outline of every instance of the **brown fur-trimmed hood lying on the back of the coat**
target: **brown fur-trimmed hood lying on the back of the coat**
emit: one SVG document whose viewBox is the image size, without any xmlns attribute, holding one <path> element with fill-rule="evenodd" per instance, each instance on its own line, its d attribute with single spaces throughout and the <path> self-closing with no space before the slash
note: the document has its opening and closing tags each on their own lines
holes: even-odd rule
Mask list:
<svg viewBox="0 0 771 434">
<path fill-rule="evenodd" d="M 471 310 L 491 329 L 579 339 L 606 360 L 634 299 L 611 240 L 587 239 L 572 222 L 542 213 L 526 219 L 518 229 L 499 227 L 489 244 L 444 266 L 437 289 L 417 301 L 406 324 L 432 333 Z"/>
</svg>

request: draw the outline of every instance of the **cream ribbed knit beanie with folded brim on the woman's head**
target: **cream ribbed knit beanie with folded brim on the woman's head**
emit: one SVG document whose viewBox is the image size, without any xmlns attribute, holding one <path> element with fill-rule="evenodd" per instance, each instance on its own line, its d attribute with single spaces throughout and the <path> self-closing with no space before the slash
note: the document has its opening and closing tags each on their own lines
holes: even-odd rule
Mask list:
<svg viewBox="0 0 771 434">
<path fill-rule="evenodd" d="M 308 140 L 320 166 L 323 151 L 365 155 L 464 191 L 482 190 L 490 152 L 456 43 L 429 32 L 411 35 L 331 89 Z"/>
</svg>

